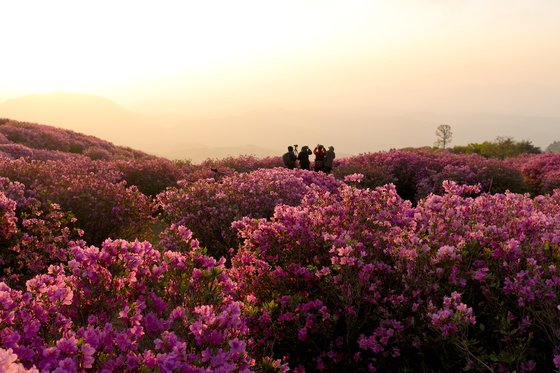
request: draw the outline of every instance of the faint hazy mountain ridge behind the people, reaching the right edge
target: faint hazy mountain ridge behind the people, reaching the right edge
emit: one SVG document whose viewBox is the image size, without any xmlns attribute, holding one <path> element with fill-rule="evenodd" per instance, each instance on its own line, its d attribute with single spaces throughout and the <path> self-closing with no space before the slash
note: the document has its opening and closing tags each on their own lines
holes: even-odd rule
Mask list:
<svg viewBox="0 0 560 373">
<path fill-rule="evenodd" d="M 172 130 L 212 146 L 254 144 L 281 154 L 288 145 L 333 145 L 352 155 L 405 147 L 432 146 L 438 125 L 451 125 L 451 145 L 493 141 L 498 136 L 528 140 L 545 149 L 560 140 L 560 118 L 492 113 L 404 113 L 261 110 L 236 116 L 184 121 Z"/>
</svg>

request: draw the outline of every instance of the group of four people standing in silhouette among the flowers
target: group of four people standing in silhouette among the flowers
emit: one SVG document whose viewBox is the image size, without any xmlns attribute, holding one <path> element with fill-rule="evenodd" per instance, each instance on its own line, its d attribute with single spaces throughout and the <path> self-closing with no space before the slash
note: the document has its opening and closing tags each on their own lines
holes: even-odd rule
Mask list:
<svg viewBox="0 0 560 373">
<path fill-rule="evenodd" d="M 322 171 L 325 173 L 330 173 L 333 167 L 333 161 L 335 158 L 334 147 L 329 146 L 328 149 L 321 144 L 318 144 L 313 151 L 305 145 L 302 146 L 301 151 L 298 152 L 297 145 L 288 146 L 288 151 L 282 156 L 282 161 L 284 162 L 284 167 L 289 169 L 296 168 L 299 162 L 299 167 L 303 170 L 311 170 L 311 161 L 309 156 L 311 154 L 315 155 L 315 160 L 313 164 L 313 169 L 315 171 Z"/>
</svg>

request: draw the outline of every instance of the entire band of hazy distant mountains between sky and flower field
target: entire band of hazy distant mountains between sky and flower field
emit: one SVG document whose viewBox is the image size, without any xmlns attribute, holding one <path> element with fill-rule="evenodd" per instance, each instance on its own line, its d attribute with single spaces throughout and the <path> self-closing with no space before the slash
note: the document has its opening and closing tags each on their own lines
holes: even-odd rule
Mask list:
<svg viewBox="0 0 560 373">
<path fill-rule="evenodd" d="M 255 110 L 215 118 L 187 113 L 139 114 L 105 98 L 53 93 L 0 103 L 0 118 L 45 123 L 97 136 L 171 159 L 250 154 L 279 155 L 288 145 L 334 146 L 339 157 L 364 152 L 431 146 L 438 125 L 451 125 L 451 145 L 529 140 L 543 150 L 560 140 L 560 118 L 457 113 L 391 115 L 368 107 L 348 110 Z"/>
</svg>

